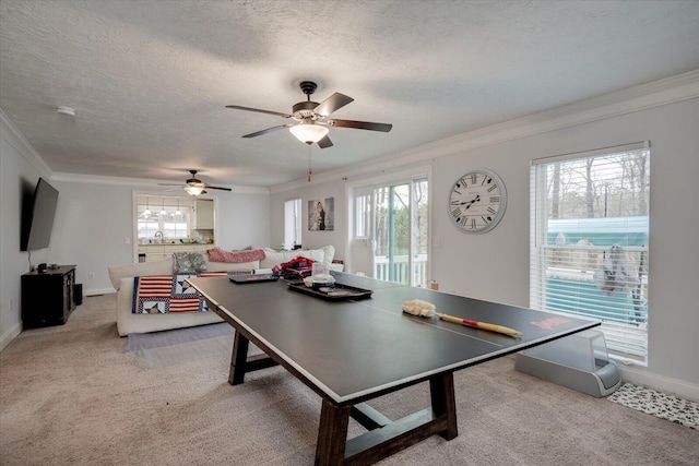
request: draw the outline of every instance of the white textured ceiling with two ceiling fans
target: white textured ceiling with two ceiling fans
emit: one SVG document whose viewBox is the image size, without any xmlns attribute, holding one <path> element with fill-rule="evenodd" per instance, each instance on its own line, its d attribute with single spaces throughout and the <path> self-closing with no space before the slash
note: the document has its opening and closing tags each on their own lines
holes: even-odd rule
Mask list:
<svg viewBox="0 0 699 466">
<path fill-rule="evenodd" d="M 57 172 L 270 187 L 303 179 L 288 122 L 333 117 L 315 172 L 699 69 L 699 1 L 0 2 L 0 108 Z M 75 117 L 57 113 L 59 106 Z"/>
</svg>

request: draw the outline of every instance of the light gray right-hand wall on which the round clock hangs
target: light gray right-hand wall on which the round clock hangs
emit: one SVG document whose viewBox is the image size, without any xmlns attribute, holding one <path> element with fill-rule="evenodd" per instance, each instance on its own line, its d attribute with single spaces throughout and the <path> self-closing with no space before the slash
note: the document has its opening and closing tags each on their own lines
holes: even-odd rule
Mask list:
<svg viewBox="0 0 699 466">
<path fill-rule="evenodd" d="M 464 138 L 458 140 L 463 148 L 459 142 L 451 141 L 437 148 L 417 148 L 404 157 L 405 163 L 411 164 L 420 156 L 433 163 L 431 278 L 448 292 L 529 306 L 530 160 L 649 140 L 652 145 L 650 357 L 648 368 L 624 368 L 624 377 L 699 399 L 696 360 L 699 356 L 696 335 L 699 328 L 699 98 L 502 140 L 474 144 Z M 438 157 L 434 157 L 436 153 Z M 502 222 L 494 230 L 465 235 L 449 219 L 448 195 L 461 175 L 477 167 L 500 175 L 507 187 L 508 205 Z M 402 168 L 401 162 L 393 162 L 394 170 Z M 301 196 L 306 203 L 309 196 L 333 194 L 335 205 L 344 208 L 343 176 L 325 179 L 322 184 L 274 193 L 273 224 L 282 222 L 283 201 L 295 196 Z M 357 182 L 357 177 L 352 181 Z M 276 231 L 274 235 L 279 237 L 281 229 Z M 344 236 L 336 236 L 331 240 L 343 239 Z M 312 246 L 318 246 L 317 240 L 312 237 Z M 335 246 L 344 251 L 344 244 Z"/>
</svg>

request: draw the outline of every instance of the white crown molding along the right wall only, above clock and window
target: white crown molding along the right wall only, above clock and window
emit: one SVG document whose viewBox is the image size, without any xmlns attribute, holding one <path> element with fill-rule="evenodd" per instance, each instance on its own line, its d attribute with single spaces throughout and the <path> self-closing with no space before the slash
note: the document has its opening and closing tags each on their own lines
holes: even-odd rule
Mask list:
<svg viewBox="0 0 699 466">
<path fill-rule="evenodd" d="M 425 164 L 427 160 L 434 162 L 435 158 L 463 153 L 464 151 L 697 97 L 699 97 L 699 70 L 694 70 L 419 145 L 377 158 L 363 164 L 362 167 L 340 168 L 318 174 L 311 182 L 297 180 L 277 184 L 270 188 L 270 192 L 279 193 L 345 178 L 362 177 L 387 169 L 395 169 L 398 166 Z"/>
</svg>

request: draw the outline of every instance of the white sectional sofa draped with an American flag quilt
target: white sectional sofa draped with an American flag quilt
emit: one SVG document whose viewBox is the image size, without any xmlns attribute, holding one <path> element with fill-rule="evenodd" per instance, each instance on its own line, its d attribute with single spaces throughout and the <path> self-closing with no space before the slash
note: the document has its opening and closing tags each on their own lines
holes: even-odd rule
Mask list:
<svg viewBox="0 0 699 466">
<path fill-rule="evenodd" d="M 331 263 L 335 254 L 335 248 L 327 246 L 321 249 L 275 251 L 264 249 L 265 258 L 252 262 L 206 262 L 208 272 L 224 272 L 235 270 L 264 270 L 272 268 L 283 262 L 299 255 L 313 261 Z M 120 336 L 130 333 L 159 332 L 171 328 L 204 325 L 223 320 L 213 311 L 187 312 L 168 314 L 134 314 L 133 306 L 133 277 L 149 275 L 168 275 L 173 273 L 173 260 L 166 259 L 156 262 L 140 262 L 133 264 L 115 265 L 109 267 L 109 278 L 117 290 L 117 330 Z"/>
</svg>

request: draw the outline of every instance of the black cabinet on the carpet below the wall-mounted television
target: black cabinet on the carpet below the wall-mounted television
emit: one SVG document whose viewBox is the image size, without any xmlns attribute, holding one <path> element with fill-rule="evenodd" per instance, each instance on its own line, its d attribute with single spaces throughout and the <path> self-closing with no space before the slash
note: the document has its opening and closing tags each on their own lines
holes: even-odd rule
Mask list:
<svg viewBox="0 0 699 466">
<path fill-rule="evenodd" d="M 62 325 L 75 309 L 75 265 L 22 275 L 23 328 Z"/>
</svg>

